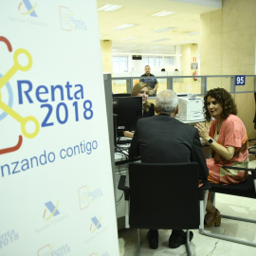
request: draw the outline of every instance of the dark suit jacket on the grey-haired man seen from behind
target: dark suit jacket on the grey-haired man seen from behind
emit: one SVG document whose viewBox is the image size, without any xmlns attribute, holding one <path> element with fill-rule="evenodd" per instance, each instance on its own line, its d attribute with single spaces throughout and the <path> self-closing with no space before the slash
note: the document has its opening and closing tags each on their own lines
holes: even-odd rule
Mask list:
<svg viewBox="0 0 256 256">
<path fill-rule="evenodd" d="M 130 156 L 138 155 L 147 163 L 198 162 L 200 178 L 208 176 L 197 129 L 168 115 L 137 121 Z"/>
</svg>

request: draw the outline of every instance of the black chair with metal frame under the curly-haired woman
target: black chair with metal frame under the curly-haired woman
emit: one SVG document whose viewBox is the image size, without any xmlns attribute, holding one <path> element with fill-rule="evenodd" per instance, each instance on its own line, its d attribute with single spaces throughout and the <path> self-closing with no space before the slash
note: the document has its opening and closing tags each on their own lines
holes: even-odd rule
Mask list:
<svg viewBox="0 0 256 256">
<path fill-rule="evenodd" d="M 218 192 L 256 199 L 256 168 L 249 169 L 249 168 L 237 168 L 237 167 L 230 167 L 230 166 L 223 166 L 223 168 L 229 168 L 229 169 L 234 169 L 239 171 L 250 171 L 251 174 L 248 174 L 248 178 L 246 181 L 239 184 L 230 184 L 230 185 L 210 184 L 210 192 L 211 192 L 210 195 L 212 195 L 213 197 L 213 204 L 215 204 L 215 193 L 218 193 Z M 227 202 L 227 204 L 229 204 L 229 202 Z M 252 219 L 241 218 L 236 216 L 229 216 L 225 214 L 221 214 L 221 216 L 227 219 L 256 223 L 256 218 L 252 220 Z M 254 229 L 256 229 L 256 227 L 254 227 Z M 250 243 L 245 240 L 234 238 L 228 235 L 214 234 L 214 233 L 211 233 L 210 231 L 206 231 L 205 229 L 200 229 L 200 233 L 210 237 L 215 237 L 215 238 L 227 240 L 230 242 L 235 242 L 235 243 L 239 243 L 239 244 L 243 244 L 251 247 L 256 247 L 256 243 Z"/>
</svg>

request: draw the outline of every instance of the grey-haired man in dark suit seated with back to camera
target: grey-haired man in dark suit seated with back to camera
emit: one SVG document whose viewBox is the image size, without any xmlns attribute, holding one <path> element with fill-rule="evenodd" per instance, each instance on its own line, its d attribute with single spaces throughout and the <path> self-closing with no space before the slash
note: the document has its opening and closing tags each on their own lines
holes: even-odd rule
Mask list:
<svg viewBox="0 0 256 256">
<path fill-rule="evenodd" d="M 144 163 L 197 162 L 199 179 L 207 180 L 209 170 L 198 131 L 174 119 L 178 113 L 178 98 L 172 90 L 158 93 L 155 112 L 158 114 L 155 117 L 137 120 L 137 131 L 129 149 L 130 157 L 140 155 L 141 162 Z M 169 247 L 176 248 L 186 244 L 186 235 L 183 230 L 173 229 L 169 238 Z M 190 240 L 192 236 L 191 231 Z M 158 230 L 150 229 L 147 239 L 149 247 L 157 248 Z"/>
</svg>

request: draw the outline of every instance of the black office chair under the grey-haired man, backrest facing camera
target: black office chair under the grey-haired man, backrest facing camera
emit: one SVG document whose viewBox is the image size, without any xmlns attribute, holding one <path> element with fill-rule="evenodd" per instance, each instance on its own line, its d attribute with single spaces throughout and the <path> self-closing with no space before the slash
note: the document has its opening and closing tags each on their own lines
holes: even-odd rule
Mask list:
<svg viewBox="0 0 256 256">
<path fill-rule="evenodd" d="M 130 163 L 129 188 L 126 176 L 119 179 L 119 190 L 124 192 L 126 228 L 137 230 L 137 255 L 140 252 L 140 229 L 199 229 L 200 214 L 205 215 L 207 182 L 198 188 L 198 164 Z M 206 196 L 204 196 L 204 190 Z M 130 200 L 130 202 L 128 202 Z M 128 209 L 128 208 L 126 208 Z M 192 255 L 188 230 L 187 252 Z"/>
</svg>

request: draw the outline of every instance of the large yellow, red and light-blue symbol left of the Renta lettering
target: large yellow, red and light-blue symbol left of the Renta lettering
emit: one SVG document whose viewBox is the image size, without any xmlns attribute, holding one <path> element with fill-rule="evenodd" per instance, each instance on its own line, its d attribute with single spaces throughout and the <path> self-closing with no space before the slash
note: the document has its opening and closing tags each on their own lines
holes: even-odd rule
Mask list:
<svg viewBox="0 0 256 256">
<path fill-rule="evenodd" d="M 0 42 L 5 43 L 6 46 L 8 47 L 9 52 L 12 52 L 12 46 L 10 45 L 9 40 L 7 38 L 0 37 Z M 19 57 L 24 56 L 24 55 L 27 57 L 26 65 L 19 63 Z M 24 48 L 19 48 L 19 49 L 15 50 L 15 52 L 13 53 L 13 65 L 11 67 L 9 67 L 9 71 L 5 75 L 1 75 L 1 78 L 0 78 L 0 109 L 2 109 L 4 111 L 4 113 L 1 114 L 1 116 L 0 116 L 0 121 L 2 119 L 5 119 L 9 115 L 12 119 L 15 119 L 16 121 L 18 121 L 21 124 L 22 134 L 28 138 L 36 137 L 37 134 L 39 133 L 39 127 L 40 127 L 39 121 L 35 117 L 32 117 L 32 116 L 27 116 L 24 118 L 24 117 L 20 116 L 18 112 L 16 112 L 15 110 L 12 109 L 13 94 L 12 94 L 11 86 L 9 84 L 9 79 L 12 76 L 14 76 L 17 71 L 27 72 L 27 70 L 29 70 L 31 68 L 31 66 L 32 66 L 32 57 L 31 57 L 30 53 Z M 8 103 L 5 103 L 4 101 L 2 101 L 1 89 L 4 86 L 7 86 L 8 92 L 9 92 L 9 102 Z M 31 123 L 31 122 L 34 124 L 35 128 L 34 128 L 34 131 L 28 132 L 27 131 L 27 123 Z M 9 148 L 4 148 L 4 149 L 0 148 L 0 155 L 6 154 L 9 152 L 13 152 L 13 151 L 17 151 L 21 147 L 22 141 L 23 141 L 23 137 L 19 136 L 18 142 L 16 145 L 11 146 Z"/>
</svg>

